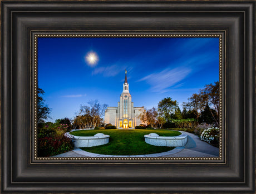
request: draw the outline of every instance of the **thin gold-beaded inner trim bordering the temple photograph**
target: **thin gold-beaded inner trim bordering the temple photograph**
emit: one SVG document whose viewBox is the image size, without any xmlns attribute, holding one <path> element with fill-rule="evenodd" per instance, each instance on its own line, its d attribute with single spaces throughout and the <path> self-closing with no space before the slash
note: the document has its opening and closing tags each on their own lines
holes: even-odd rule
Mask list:
<svg viewBox="0 0 256 194">
<path fill-rule="evenodd" d="M 224 34 L 224 35 L 223 35 Z M 224 37 L 223 37 L 224 36 Z M 33 119 L 35 123 L 35 128 L 33 128 L 32 133 L 32 144 L 31 154 L 35 161 L 221 161 L 223 160 L 223 38 L 225 38 L 225 31 L 31 31 L 31 63 L 33 72 L 33 96 L 34 96 L 34 109 L 32 110 L 35 118 Z M 219 38 L 219 157 L 37 157 L 37 38 L 122 38 L 122 37 L 132 37 L 132 38 Z M 225 44 L 224 44 L 225 45 Z M 224 47 L 225 53 L 225 47 Z M 224 59 L 225 61 L 225 59 Z M 225 129 L 224 129 L 225 131 Z M 226 142 L 226 141 L 225 141 Z M 225 149 L 225 147 L 224 147 Z M 225 158 L 224 158 L 225 159 Z M 184 162 L 183 162 L 184 163 Z M 194 162 L 193 162 L 194 163 Z M 225 160 L 224 160 L 225 163 Z M 218 162 L 220 164 L 220 162 Z"/>
</svg>

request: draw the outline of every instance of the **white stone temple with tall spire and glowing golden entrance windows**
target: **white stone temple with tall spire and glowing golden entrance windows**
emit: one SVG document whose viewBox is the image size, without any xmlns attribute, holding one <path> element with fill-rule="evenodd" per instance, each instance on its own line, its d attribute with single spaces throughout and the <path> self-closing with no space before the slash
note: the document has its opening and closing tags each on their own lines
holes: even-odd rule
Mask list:
<svg viewBox="0 0 256 194">
<path fill-rule="evenodd" d="M 144 111 L 143 107 L 134 107 L 134 102 L 131 101 L 126 73 L 125 71 L 125 82 L 122 86 L 120 102 L 117 107 L 107 107 L 104 117 L 106 124 L 111 123 L 117 128 L 134 128 L 140 125 L 142 122 L 138 116 Z"/>
</svg>

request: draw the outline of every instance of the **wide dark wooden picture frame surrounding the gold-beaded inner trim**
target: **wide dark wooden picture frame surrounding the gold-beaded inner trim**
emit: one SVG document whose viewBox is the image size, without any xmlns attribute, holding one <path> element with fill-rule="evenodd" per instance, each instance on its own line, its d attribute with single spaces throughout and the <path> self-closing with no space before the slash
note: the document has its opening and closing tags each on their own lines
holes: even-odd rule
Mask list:
<svg viewBox="0 0 256 194">
<path fill-rule="evenodd" d="M 2 1 L 2 193 L 254 193 L 254 1 Z M 225 157 L 33 161 L 31 31 L 225 31 Z"/>
</svg>

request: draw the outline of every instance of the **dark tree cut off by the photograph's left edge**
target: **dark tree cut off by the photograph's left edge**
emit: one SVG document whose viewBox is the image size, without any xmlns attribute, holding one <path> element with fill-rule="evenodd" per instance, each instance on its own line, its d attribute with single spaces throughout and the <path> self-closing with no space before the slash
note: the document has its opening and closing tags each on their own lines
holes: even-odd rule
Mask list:
<svg viewBox="0 0 256 194">
<path fill-rule="evenodd" d="M 48 108 L 42 97 L 44 93 L 43 89 L 37 87 L 37 123 L 43 123 L 47 118 L 51 118 L 49 116 L 51 109 Z"/>
</svg>

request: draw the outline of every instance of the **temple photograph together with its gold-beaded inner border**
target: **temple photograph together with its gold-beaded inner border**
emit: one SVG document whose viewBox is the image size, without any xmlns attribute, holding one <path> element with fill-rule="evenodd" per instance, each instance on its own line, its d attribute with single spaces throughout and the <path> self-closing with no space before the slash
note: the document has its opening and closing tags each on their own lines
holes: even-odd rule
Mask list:
<svg viewBox="0 0 256 194">
<path fill-rule="evenodd" d="M 221 160 L 224 36 L 33 31 L 35 160 Z"/>
</svg>

